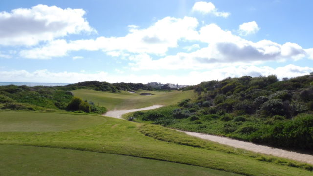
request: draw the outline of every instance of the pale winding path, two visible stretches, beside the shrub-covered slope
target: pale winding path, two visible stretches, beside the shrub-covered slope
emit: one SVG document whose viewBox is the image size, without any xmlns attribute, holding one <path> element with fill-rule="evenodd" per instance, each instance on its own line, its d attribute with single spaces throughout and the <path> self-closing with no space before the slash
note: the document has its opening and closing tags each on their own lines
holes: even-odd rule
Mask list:
<svg viewBox="0 0 313 176">
<path fill-rule="evenodd" d="M 122 119 L 121 118 L 122 115 L 129 113 L 129 112 L 136 112 L 136 111 L 142 111 L 142 110 L 152 110 L 152 109 L 160 108 L 162 106 L 163 105 L 153 105 L 150 107 L 132 109 L 132 110 L 114 110 L 114 111 L 108 111 L 107 113 L 105 113 L 103 115 L 108 116 L 108 117 Z M 272 147 L 268 147 L 268 146 L 257 145 L 257 144 L 253 144 L 251 142 L 239 141 L 239 140 L 230 139 L 227 137 L 220 137 L 220 136 L 214 136 L 214 135 L 209 135 L 209 134 L 201 134 L 201 133 L 197 133 L 197 132 L 187 132 L 187 131 L 182 131 L 182 130 L 178 130 L 178 131 L 184 132 L 187 135 L 199 137 L 199 138 L 205 139 L 205 140 L 218 142 L 220 144 L 225 144 L 225 145 L 232 146 L 235 148 L 241 148 L 241 149 L 245 149 L 245 150 L 249 150 L 249 151 L 253 151 L 253 152 L 257 152 L 257 153 L 262 153 L 262 154 L 270 154 L 273 156 L 288 158 L 288 159 L 292 159 L 292 160 L 296 160 L 296 161 L 300 161 L 300 162 L 305 162 L 305 163 L 313 165 L 313 155 L 301 154 L 301 153 L 297 153 L 297 152 L 286 151 L 286 150 L 272 148 Z"/>
</svg>

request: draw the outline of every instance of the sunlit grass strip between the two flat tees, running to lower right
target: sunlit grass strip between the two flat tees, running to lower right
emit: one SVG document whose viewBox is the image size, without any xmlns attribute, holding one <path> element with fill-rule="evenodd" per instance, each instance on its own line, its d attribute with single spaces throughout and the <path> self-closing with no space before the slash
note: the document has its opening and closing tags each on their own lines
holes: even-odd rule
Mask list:
<svg viewBox="0 0 313 176">
<path fill-rule="evenodd" d="M 235 149 L 217 143 L 202 141 L 210 148 L 201 148 L 157 140 L 139 132 L 142 124 L 108 117 L 104 118 L 106 122 L 103 124 L 64 132 L 0 132 L 0 144 L 122 154 L 202 166 L 251 176 L 312 175 L 312 172 L 304 169 L 259 161 L 250 157 L 249 154 L 245 155 L 245 151 L 240 152 L 240 154 L 227 152 L 227 150 L 235 151 Z M 151 126 L 151 128 L 154 128 L 154 126 Z M 159 128 L 160 131 L 165 130 L 163 127 Z M 167 136 L 174 135 L 175 137 L 175 131 L 166 131 Z M 185 134 L 181 135 L 183 138 L 187 137 Z M 217 150 L 217 148 L 223 150 Z M 260 156 L 266 157 L 265 155 Z"/>
</svg>

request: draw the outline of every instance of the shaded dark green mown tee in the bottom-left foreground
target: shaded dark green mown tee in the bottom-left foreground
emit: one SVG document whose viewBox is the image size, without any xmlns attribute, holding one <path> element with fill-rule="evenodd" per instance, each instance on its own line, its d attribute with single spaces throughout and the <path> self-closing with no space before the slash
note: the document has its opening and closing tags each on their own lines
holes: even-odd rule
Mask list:
<svg viewBox="0 0 313 176">
<path fill-rule="evenodd" d="M 69 149 L 0 145 L 0 153 L 1 176 L 241 176 L 199 166 Z"/>
</svg>

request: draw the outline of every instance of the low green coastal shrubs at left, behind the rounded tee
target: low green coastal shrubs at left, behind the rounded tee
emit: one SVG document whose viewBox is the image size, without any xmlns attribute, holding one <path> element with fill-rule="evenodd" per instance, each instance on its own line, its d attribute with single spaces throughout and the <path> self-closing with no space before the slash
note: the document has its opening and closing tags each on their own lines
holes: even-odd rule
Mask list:
<svg viewBox="0 0 313 176">
<path fill-rule="evenodd" d="M 78 111 L 102 114 L 105 107 L 74 97 L 70 91 L 47 86 L 0 86 L 0 109 L 22 111 Z"/>
</svg>

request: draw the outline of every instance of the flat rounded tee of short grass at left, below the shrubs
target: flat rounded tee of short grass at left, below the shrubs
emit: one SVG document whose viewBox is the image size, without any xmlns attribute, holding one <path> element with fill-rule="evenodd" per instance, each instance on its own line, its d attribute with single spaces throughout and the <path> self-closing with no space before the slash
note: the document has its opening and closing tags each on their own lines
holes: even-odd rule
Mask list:
<svg viewBox="0 0 313 176">
<path fill-rule="evenodd" d="M 88 128 L 104 122 L 104 118 L 94 115 L 1 112 L 0 132 L 67 131 Z"/>
</svg>

